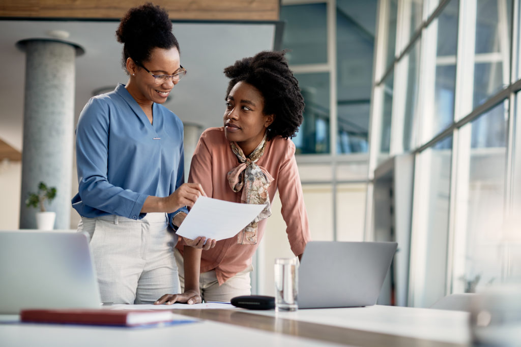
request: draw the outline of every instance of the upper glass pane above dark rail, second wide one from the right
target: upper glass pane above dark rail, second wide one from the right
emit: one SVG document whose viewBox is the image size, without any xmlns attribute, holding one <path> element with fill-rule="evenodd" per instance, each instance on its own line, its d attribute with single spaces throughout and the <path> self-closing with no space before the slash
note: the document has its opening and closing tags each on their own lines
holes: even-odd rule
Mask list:
<svg viewBox="0 0 521 347">
<path fill-rule="evenodd" d="M 449 2 L 424 31 L 423 143 L 454 119 L 458 8 L 458 0 Z"/>
</svg>

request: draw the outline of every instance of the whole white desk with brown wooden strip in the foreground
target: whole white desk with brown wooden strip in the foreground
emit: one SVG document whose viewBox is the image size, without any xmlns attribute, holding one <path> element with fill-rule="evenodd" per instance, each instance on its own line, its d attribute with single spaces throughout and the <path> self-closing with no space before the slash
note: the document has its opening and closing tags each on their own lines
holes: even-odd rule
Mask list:
<svg viewBox="0 0 521 347">
<path fill-rule="evenodd" d="M 0 324 L 0 345 L 18 346 L 466 346 L 468 314 L 369 306 L 296 312 L 174 310 L 202 319 L 158 328 Z"/>
</svg>

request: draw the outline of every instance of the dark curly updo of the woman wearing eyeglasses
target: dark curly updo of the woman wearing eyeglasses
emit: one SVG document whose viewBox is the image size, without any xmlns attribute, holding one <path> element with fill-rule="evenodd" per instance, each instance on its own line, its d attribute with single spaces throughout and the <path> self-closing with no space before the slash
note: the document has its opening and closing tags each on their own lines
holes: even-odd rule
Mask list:
<svg viewBox="0 0 521 347">
<path fill-rule="evenodd" d="M 129 9 L 121 18 L 116 37 L 123 44 L 123 70 L 126 70 L 127 58 L 142 63 L 150 58 L 156 47 L 179 50 L 168 12 L 152 3 Z"/>
</svg>

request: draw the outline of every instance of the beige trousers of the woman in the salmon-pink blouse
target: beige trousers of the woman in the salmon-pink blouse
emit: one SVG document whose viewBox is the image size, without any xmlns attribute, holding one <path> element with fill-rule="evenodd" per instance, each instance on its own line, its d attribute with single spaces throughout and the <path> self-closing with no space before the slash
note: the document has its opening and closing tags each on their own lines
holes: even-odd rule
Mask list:
<svg viewBox="0 0 521 347">
<path fill-rule="evenodd" d="M 173 251 L 177 266 L 179 268 L 179 282 L 181 284 L 181 292 L 184 291 L 184 266 L 183 256 L 176 248 Z M 240 295 L 250 295 L 252 286 L 250 273 L 253 271 L 253 266 L 250 265 L 244 271 L 229 278 L 221 286 L 217 281 L 215 270 L 210 270 L 202 273 L 199 276 L 199 289 L 201 290 L 201 298 L 205 302 L 230 302 L 234 297 Z"/>
</svg>

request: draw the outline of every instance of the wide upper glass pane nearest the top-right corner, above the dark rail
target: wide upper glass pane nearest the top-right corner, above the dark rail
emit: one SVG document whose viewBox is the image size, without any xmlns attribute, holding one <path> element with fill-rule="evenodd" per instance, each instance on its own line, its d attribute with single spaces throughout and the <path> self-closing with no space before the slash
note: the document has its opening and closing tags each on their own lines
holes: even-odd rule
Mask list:
<svg viewBox="0 0 521 347">
<path fill-rule="evenodd" d="M 478 0 L 476 3 L 474 107 L 510 82 L 512 1 Z"/>
</svg>

